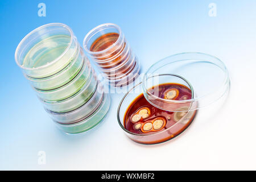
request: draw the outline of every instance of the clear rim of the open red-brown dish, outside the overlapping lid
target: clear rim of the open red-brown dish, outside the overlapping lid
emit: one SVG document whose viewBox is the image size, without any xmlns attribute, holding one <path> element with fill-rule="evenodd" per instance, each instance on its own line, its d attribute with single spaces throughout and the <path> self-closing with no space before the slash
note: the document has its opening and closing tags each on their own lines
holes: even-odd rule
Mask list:
<svg viewBox="0 0 256 182">
<path fill-rule="evenodd" d="M 122 122 L 121 122 L 121 120 L 120 120 L 120 118 L 119 118 L 119 111 L 120 111 L 120 109 L 121 109 L 121 105 L 122 105 L 122 103 L 123 103 L 123 101 L 125 100 L 125 98 L 126 98 L 126 96 L 128 95 L 128 94 L 130 94 L 130 92 L 133 92 L 133 90 L 137 87 L 137 86 L 139 86 L 139 85 L 141 85 L 142 84 L 142 82 L 139 82 L 137 85 L 135 85 L 133 88 L 131 88 L 130 90 L 129 90 L 129 92 L 127 92 L 126 94 L 125 94 L 125 96 L 123 96 L 123 98 L 122 98 L 122 100 L 121 100 L 121 102 L 120 102 L 120 104 L 118 105 L 118 109 L 117 109 L 117 121 L 118 121 L 118 124 L 121 126 L 121 128 L 123 129 L 123 131 L 125 131 L 126 133 L 129 133 L 129 134 L 131 134 L 131 135 L 136 135 L 136 136 L 139 136 L 139 137 L 148 137 L 148 136 L 154 136 L 154 135 L 159 135 L 159 134 L 161 134 L 161 133 L 164 133 L 164 132 L 166 132 L 166 130 L 170 130 L 172 127 L 175 127 L 177 124 L 179 124 L 179 123 L 181 123 L 181 122 L 183 122 L 183 119 L 185 118 L 185 117 L 187 117 L 187 115 L 189 114 L 188 112 L 178 121 L 178 122 L 176 122 L 174 125 L 172 125 L 171 127 L 168 127 L 168 129 L 166 129 L 166 130 L 163 130 L 163 131 L 160 131 L 160 132 L 156 132 L 155 134 L 136 134 L 136 133 L 132 133 L 131 131 L 129 131 L 129 130 L 126 130 L 126 128 L 122 125 Z M 193 90 L 193 89 L 192 89 Z M 133 101 L 131 101 L 131 102 L 133 102 Z M 150 104 L 151 104 L 151 102 L 150 102 Z"/>
</svg>

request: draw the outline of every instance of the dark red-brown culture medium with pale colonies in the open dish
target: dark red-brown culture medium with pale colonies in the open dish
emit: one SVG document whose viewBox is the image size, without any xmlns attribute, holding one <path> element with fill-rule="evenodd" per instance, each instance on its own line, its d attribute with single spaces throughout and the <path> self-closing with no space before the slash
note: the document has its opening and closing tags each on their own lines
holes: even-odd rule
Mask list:
<svg viewBox="0 0 256 182">
<path fill-rule="evenodd" d="M 155 87 L 153 87 L 149 92 L 154 93 L 155 90 Z M 191 90 L 187 88 L 187 86 L 176 83 L 158 85 L 158 93 L 156 95 L 160 98 L 169 100 L 189 100 L 192 97 Z M 177 108 L 178 107 L 180 107 L 179 104 L 177 104 Z M 183 109 L 185 110 L 188 108 L 180 108 L 180 110 Z M 135 98 L 127 108 L 124 117 L 124 126 L 125 129 L 131 133 L 139 135 L 156 134 L 173 126 L 168 134 L 155 135 L 156 138 L 154 138 L 154 142 L 142 142 L 139 140 L 139 136 L 138 140 L 133 138 L 135 142 L 139 143 L 160 143 L 176 137 L 189 126 L 193 121 L 193 118 L 195 118 L 196 111 L 189 111 L 189 114 L 187 113 L 187 111 L 171 112 L 152 106 L 146 98 L 144 98 L 142 93 Z M 186 114 L 189 117 L 187 122 L 179 122 Z"/>
</svg>

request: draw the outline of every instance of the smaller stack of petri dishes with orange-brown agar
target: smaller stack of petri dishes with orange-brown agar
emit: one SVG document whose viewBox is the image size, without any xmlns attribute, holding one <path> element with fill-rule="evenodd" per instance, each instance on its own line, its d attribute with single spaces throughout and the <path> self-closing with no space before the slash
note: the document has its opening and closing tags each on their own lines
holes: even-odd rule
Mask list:
<svg viewBox="0 0 256 182">
<path fill-rule="evenodd" d="M 83 46 L 110 85 L 125 86 L 139 76 L 137 56 L 116 24 L 105 23 L 93 28 L 85 36 Z"/>
</svg>

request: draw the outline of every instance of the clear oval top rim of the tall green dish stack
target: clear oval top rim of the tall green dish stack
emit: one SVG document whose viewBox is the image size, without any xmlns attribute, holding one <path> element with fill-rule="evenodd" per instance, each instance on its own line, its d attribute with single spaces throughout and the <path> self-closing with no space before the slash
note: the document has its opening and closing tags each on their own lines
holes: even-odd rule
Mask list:
<svg viewBox="0 0 256 182">
<path fill-rule="evenodd" d="M 22 44 L 24 43 L 24 41 L 29 37 L 31 36 L 32 34 L 34 34 L 36 31 L 39 31 L 39 30 L 42 30 L 43 28 L 46 28 L 46 27 L 51 27 L 51 26 L 60 26 L 60 27 L 64 27 L 68 30 L 69 34 L 70 34 L 70 41 L 68 43 L 68 46 L 67 48 L 65 48 L 64 52 L 61 53 L 61 55 L 59 57 L 57 57 L 55 60 L 51 61 L 51 63 L 47 64 L 47 65 L 42 65 L 40 67 L 36 67 L 36 68 L 27 68 L 27 67 L 23 67 L 23 65 L 20 65 L 19 64 L 19 61 L 18 61 L 18 52 L 19 52 L 19 49 L 20 47 L 22 46 Z M 16 48 L 16 51 L 15 51 L 15 61 L 16 61 L 16 64 L 22 68 L 22 69 L 26 69 L 26 70 L 36 70 L 36 69 L 42 69 L 42 68 L 47 68 L 49 67 L 50 65 L 56 63 L 59 59 L 61 59 L 61 57 L 63 57 L 65 55 L 65 53 L 67 53 L 68 49 L 71 47 L 71 44 L 73 42 L 73 39 L 74 39 L 74 34 L 73 34 L 73 31 L 71 30 L 71 28 L 69 26 L 67 26 L 66 24 L 63 24 L 63 23 L 49 23 L 49 24 L 44 24 L 43 26 L 40 26 L 38 28 L 35 28 L 33 31 L 31 31 L 30 33 L 28 33 L 19 43 L 18 47 Z"/>
</svg>

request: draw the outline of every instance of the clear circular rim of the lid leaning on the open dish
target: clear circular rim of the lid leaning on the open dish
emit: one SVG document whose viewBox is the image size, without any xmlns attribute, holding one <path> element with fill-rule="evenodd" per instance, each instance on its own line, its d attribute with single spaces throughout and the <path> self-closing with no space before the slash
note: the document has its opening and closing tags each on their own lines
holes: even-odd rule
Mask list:
<svg viewBox="0 0 256 182">
<path fill-rule="evenodd" d="M 178 56 L 178 55 L 185 55 L 185 54 L 186 54 L 186 55 L 205 55 L 205 56 L 209 56 L 209 57 L 212 57 L 213 59 L 218 60 L 218 61 L 220 62 L 220 64 L 221 64 L 221 66 L 222 66 L 224 69 L 222 69 L 222 68 L 220 67 L 220 65 L 217 65 L 217 64 L 215 64 L 215 63 L 212 63 L 210 60 L 208 60 L 208 62 L 209 62 L 209 63 L 212 63 L 212 64 L 214 64 L 214 65 L 216 65 L 216 66 L 219 67 L 219 68 L 221 68 L 221 70 L 225 73 L 225 78 L 224 78 L 224 80 L 223 80 L 221 86 L 224 87 L 226 84 L 229 84 L 228 69 L 226 68 L 225 64 L 224 64 L 220 59 L 218 59 L 218 58 L 215 57 L 215 56 L 208 55 L 208 54 L 206 54 L 206 53 L 200 53 L 200 52 L 183 52 L 183 53 L 177 53 L 177 54 L 175 54 L 175 55 L 171 55 L 171 56 L 165 57 L 164 59 L 157 61 L 155 64 L 151 65 L 150 68 L 148 68 L 148 70 L 146 71 L 145 75 L 144 75 L 143 78 L 142 78 L 142 83 L 143 83 L 143 84 L 142 84 L 142 90 L 143 90 L 144 96 L 146 96 L 146 97 L 149 96 L 149 94 L 148 94 L 148 92 L 147 92 L 147 89 L 146 89 L 146 81 L 147 81 L 147 79 L 150 78 L 150 77 L 152 77 L 152 76 L 154 76 L 154 75 L 155 75 L 155 76 L 159 75 L 159 74 L 154 74 L 154 72 L 155 72 L 158 68 L 160 68 L 158 65 L 164 63 L 164 61 L 167 60 L 167 59 L 170 58 L 170 57 L 175 57 L 175 56 Z M 185 60 L 188 60 L 188 59 L 185 59 Z M 198 60 L 199 60 L 199 59 L 198 59 Z M 170 62 L 170 63 L 175 63 L 175 62 L 177 62 L 177 61 L 184 61 L 184 60 L 176 60 L 176 61 L 172 61 L 172 62 Z M 204 61 L 205 61 L 205 60 L 204 60 Z M 167 63 L 167 64 L 170 64 L 170 63 Z M 165 64 L 165 65 L 167 65 L 167 64 Z M 162 65 L 162 66 L 163 66 L 163 65 Z M 214 90 L 214 91 L 216 92 L 217 90 Z M 210 95 L 210 94 L 213 94 L 214 91 L 213 91 L 212 93 L 209 93 L 209 95 Z M 224 94 L 225 94 L 225 92 L 222 93 L 221 97 L 222 97 Z M 177 100 L 166 100 L 166 99 L 160 98 L 160 97 L 157 97 L 157 99 L 160 100 L 160 101 L 166 102 L 166 103 L 170 103 L 170 104 L 174 104 L 174 103 L 176 103 L 176 104 L 184 104 L 184 103 L 187 103 L 187 102 L 191 102 L 191 103 L 193 103 L 193 102 L 200 102 L 200 100 L 202 100 L 204 97 L 207 97 L 207 96 L 208 96 L 208 95 L 200 96 L 200 97 L 196 97 L 196 96 L 195 96 L 195 97 L 191 98 L 190 100 L 181 100 L 181 101 L 177 101 Z M 221 98 L 221 97 L 220 97 L 220 98 Z M 151 104 L 151 102 L 150 102 L 150 104 Z M 199 108 L 198 108 L 198 109 L 199 109 Z"/>
</svg>

